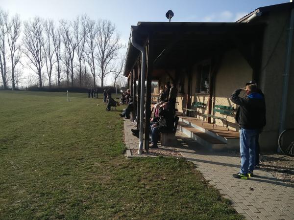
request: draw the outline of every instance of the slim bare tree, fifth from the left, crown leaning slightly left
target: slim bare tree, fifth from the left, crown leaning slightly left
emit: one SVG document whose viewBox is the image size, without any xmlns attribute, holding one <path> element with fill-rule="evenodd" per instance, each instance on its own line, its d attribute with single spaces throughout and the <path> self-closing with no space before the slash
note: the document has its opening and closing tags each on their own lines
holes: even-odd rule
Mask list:
<svg viewBox="0 0 294 220">
<path fill-rule="evenodd" d="M 56 75 L 57 75 L 57 85 L 60 87 L 61 81 L 61 69 L 60 69 L 60 61 L 61 61 L 61 36 L 60 36 L 60 29 L 57 30 L 53 27 L 50 29 L 50 35 L 52 38 L 55 58 L 56 58 Z"/>
</svg>

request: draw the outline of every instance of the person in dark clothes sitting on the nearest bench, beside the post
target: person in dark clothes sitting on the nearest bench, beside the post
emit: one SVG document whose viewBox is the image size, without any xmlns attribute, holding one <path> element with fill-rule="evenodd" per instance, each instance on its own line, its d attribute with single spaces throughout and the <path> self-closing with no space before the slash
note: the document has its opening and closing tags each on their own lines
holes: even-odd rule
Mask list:
<svg viewBox="0 0 294 220">
<path fill-rule="evenodd" d="M 156 121 L 157 118 L 152 120 Z M 152 144 L 149 146 L 150 149 L 158 148 L 157 140 L 160 132 L 172 131 L 173 129 L 173 113 L 169 110 L 169 103 L 165 102 L 163 107 L 159 109 L 159 119 L 157 122 L 150 125 L 150 134 Z"/>
</svg>

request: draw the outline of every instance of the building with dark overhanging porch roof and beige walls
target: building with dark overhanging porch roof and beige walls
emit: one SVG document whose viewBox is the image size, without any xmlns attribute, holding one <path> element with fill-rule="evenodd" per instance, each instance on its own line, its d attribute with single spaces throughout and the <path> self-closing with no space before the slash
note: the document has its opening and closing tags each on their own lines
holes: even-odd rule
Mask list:
<svg viewBox="0 0 294 220">
<path fill-rule="evenodd" d="M 177 86 L 178 112 L 198 101 L 205 103 L 201 113 L 221 116 L 213 111 L 214 106 L 237 109 L 229 100 L 232 91 L 254 79 L 267 105 L 267 125 L 260 145 L 275 150 L 279 133 L 294 127 L 293 20 L 294 3 L 289 2 L 260 7 L 237 22 L 138 22 L 131 26 L 124 75 L 131 92 L 139 90 L 140 94 L 146 63 L 146 128 L 152 81 L 159 86 L 166 82 Z M 138 89 L 133 86 L 136 81 Z M 138 99 L 140 103 L 140 95 Z M 238 131 L 234 116 L 227 117 L 230 131 Z M 212 121 L 208 118 L 209 123 Z M 147 148 L 149 134 L 148 129 L 145 131 Z"/>
</svg>

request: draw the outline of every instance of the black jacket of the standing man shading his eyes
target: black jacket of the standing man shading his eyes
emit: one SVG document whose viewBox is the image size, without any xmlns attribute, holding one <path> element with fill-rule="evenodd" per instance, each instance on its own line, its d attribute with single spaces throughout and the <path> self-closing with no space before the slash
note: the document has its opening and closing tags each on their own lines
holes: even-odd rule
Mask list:
<svg viewBox="0 0 294 220">
<path fill-rule="evenodd" d="M 261 129 L 266 125 L 266 102 L 260 93 L 251 93 L 245 98 L 239 97 L 241 88 L 236 89 L 230 100 L 239 105 L 236 121 L 244 129 Z"/>
</svg>

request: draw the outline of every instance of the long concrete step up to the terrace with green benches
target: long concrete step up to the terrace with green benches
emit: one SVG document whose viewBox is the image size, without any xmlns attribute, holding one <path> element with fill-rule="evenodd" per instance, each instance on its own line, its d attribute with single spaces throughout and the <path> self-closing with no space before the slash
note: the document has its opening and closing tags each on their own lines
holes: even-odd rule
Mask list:
<svg viewBox="0 0 294 220">
<path fill-rule="evenodd" d="M 188 123 L 185 120 L 179 120 L 177 130 L 196 140 L 200 145 L 210 150 L 239 149 L 239 139 L 236 142 L 235 139 L 220 138 L 214 132 Z"/>
</svg>

